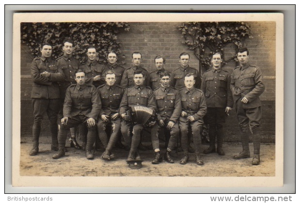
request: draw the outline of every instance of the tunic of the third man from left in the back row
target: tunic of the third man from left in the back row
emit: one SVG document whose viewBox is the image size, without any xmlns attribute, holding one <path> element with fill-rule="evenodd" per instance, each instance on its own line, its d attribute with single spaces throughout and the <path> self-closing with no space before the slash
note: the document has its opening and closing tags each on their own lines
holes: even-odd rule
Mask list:
<svg viewBox="0 0 300 203">
<path fill-rule="evenodd" d="M 93 84 L 95 87 L 105 84 L 105 80 L 103 80 L 103 79 L 94 81 L 95 76 L 102 77 L 102 74 L 104 73 L 103 72 L 103 70 L 104 70 L 103 64 L 101 64 L 97 61 L 91 62 L 90 60 L 88 60 L 87 62 L 80 65 L 79 68 L 84 71 L 85 76 L 86 76 L 85 82 L 87 84 Z"/>
</svg>

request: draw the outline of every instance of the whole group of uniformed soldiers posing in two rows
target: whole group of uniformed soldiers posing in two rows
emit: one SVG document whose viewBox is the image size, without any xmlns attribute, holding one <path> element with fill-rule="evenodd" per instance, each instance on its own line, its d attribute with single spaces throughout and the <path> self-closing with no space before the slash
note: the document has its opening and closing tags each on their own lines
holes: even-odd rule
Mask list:
<svg viewBox="0 0 300 203">
<path fill-rule="evenodd" d="M 107 65 L 97 62 L 94 46 L 87 48 L 88 61 L 80 65 L 73 57 L 74 42 L 70 39 L 63 41 L 63 56 L 56 61 L 51 59 L 52 45 L 42 44 L 40 51 L 41 57 L 36 57 L 31 65 L 34 114 L 31 156 L 38 154 L 41 123 L 47 112 L 52 138 L 51 150 L 57 151 L 52 156 L 55 159 L 65 155 L 66 138 L 70 129 L 71 146 L 85 150 L 87 159 L 94 158 L 93 145 L 96 138 L 105 147 L 101 158 L 108 161 L 113 159 L 113 147 L 122 133 L 129 150 L 126 160 L 141 160 L 138 146 L 141 132 L 146 129 L 151 133 L 155 152 L 153 164 L 158 164 L 162 159 L 174 163 L 171 152 L 178 146 L 178 141 L 183 150 L 179 163 L 186 164 L 192 137 L 196 164 L 203 165 L 200 133 L 204 122 L 209 125 L 210 144 L 203 153 L 217 152 L 221 156 L 225 155 L 222 148 L 223 125 L 226 115 L 235 104 L 243 150 L 234 158 L 250 158 L 250 126 L 254 146 L 252 164 L 260 163 L 259 95 L 264 92 L 265 87 L 261 70 L 248 62 L 247 48 L 237 51 L 240 65 L 232 74 L 221 68 L 221 53 L 214 53 L 212 67 L 202 78 L 197 69 L 189 66 L 189 54 L 185 52 L 179 56 L 180 67 L 172 73 L 164 69 L 166 61 L 163 56 L 155 57 L 156 70 L 149 73 L 142 65 L 140 52 L 132 53 L 132 64 L 125 69 L 117 64 L 118 58 L 114 51 L 108 53 Z M 152 121 L 147 126 L 133 125 L 126 113 L 133 106 L 155 110 L 157 121 Z M 76 141 L 78 125 L 83 126 L 81 146 Z M 107 134 L 108 128 L 111 128 L 111 135 Z M 159 131 L 163 131 L 166 136 L 165 153 L 161 153 L 159 149 Z"/>
</svg>

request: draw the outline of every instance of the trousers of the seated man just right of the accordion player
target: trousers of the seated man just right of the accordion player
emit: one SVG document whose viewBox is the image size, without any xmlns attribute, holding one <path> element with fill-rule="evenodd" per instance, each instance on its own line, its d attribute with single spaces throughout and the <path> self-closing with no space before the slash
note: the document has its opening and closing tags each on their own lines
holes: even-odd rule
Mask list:
<svg viewBox="0 0 300 203">
<path fill-rule="evenodd" d="M 165 125 L 164 127 L 160 127 L 158 123 L 156 123 L 152 128 L 151 128 L 151 141 L 152 141 L 152 146 L 153 149 L 159 149 L 159 139 L 158 139 L 158 131 L 159 130 L 164 130 L 164 134 L 170 133 L 170 140 L 168 144 L 168 149 L 169 150 L 174 150 L 174 148 L 177 145 L 177 138 L 179 136 L 179 125 L 178 123 L 175 123 L 171 129 L 167 128 L 168 125 L 167 119 L 165 120 Z"/>
</svg>

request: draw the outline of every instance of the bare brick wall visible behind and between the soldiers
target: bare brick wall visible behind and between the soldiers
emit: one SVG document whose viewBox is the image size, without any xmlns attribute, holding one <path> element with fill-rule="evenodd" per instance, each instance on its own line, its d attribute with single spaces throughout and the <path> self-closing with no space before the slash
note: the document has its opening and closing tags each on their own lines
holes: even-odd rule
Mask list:
<svg viewBox="0 0 300 203">
<path fill-rule="evenodd" d="M 122 54 L 126 56 L 124 67 L 129 67 L 131 54 L 134 51 L 142 53 L 142 63 L 152 71 L 155 69 L 154 58 L 156 55 L 166 57 L 165 68 L 173 71 L 178 67 L 178 56 L 182 52 L 190 54 L 190 66 L 199 68 L 199 61 L 184 44 L 181 32 L 177 27 L 180 22 L 131 22 L 130 30 L 118 35 L 122 42 Z M 263 120 L 261 123 L 262 141 L 275 141 L 275 22 L 248 22 L 253 38 L 246 40 L 245 47 L 249 48 L 249 61 L 261 68 L 266 86 L 261 95 Z M 235 54 L 235 48 L 224 48 L 225 60 Z M 29 48 L 21 45 L 21 132 L 22 136 L 31 135 L 32 107 L 31 107 L 31 78 L 30 64 L 33 56 Z M 236 62 L 228 62 L 223 68 L 232 72 Z M 46 116 L 47 117 L 47 116 Z M 47 133 L 47 119 L 43 122 Z M 238 123 L 235 111 L 226 121 L 226 141 L 239 141 Z M 45 133 L 44 133 L 45 134 Z"/>
</svg>

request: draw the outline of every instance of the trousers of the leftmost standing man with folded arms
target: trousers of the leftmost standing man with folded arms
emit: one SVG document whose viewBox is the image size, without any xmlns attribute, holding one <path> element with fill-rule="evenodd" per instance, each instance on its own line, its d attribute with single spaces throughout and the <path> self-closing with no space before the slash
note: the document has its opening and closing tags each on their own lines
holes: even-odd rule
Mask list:
<svg viewBox="0 0 300 203">
<path fill-rule="evenodd" d="M 57 145 L 57 114 L 59 111 L 60 99 L 38 99 L 32 98 L 33 108 L 33 125 L 32 125 L 32 138 L 33 145 L 39 145 L 39 137 L 41 132 L 41 124 L 44 114 L 47 113 L 49 119 L 49 128 L 52 139 L 52 144 Z"/>
</svg>

